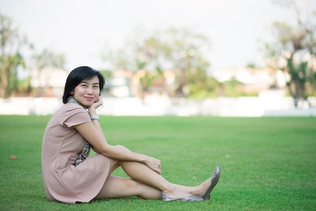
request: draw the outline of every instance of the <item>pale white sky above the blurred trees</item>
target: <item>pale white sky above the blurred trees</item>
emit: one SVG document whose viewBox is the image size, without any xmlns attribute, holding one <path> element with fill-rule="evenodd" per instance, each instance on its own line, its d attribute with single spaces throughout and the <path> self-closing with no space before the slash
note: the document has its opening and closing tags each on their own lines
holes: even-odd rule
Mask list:
<svg viewBox="0 0 316 211">
<path fill-rule="evenodd" d="M 302 1 L 316 8 L 316 1 Z M 273 41 L 269 25 L 295 23 L 295 13 L 272 0 L 0 0 L 0 12 L 36 52 L 64 54 L 69 71 L 106 68 L 102 51 L 124 47 L 136 26 L 186 27 L 205 35 L 211 42 L 210 71 L 249 63 L 264 67 L 262 42 Z"/>
</svg>

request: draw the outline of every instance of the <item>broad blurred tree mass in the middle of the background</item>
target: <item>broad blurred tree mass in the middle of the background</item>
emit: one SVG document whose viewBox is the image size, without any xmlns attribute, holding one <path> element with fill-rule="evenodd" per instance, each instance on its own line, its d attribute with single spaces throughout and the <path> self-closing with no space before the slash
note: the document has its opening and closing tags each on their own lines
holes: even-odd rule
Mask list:
<svg viewBox="0 0 316 211">
<path fill-rule="evenodd" d="M 209 62 L 204 55 L 210 44 L 206 37 L 185 28 L 154 31 L 149 35 L 139 29 L 135 31 L 135 37 L 124 45 L 124 49 L 109 54 L 107 60 L 113 64 L 113 69 L 129 70 L 133 74 L 139 70 L 150 72 L 143 74 L 140 80 L 143 91 L 154 80 L 164 79 L 166 70 L 176 74 L 173 83 L 165 78 L 171 97 L 194 96 L 194 92 L 203 89 L 207 92 L 213 87 L 207 82 Z M 193 88 L 197 84 L 199 88 Z"/>
</svg>

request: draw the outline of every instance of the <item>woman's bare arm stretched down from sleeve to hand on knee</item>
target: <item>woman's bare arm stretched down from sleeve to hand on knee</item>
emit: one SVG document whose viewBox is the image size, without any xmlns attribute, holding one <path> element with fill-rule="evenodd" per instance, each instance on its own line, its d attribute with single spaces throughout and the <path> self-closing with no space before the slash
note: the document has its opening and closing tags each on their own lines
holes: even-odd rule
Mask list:
<svg viewBox="0 0 316 211">
<path fill-rule="evenodd" d="M 111 157 L 112 159 L 119 161 L 144 163 L 153 171 L 161 174 L 161 163 L 159 160 L 145 154 L 126 150 L 120 146 L 108 144 L 104 135 L 97 130 L 93 123 L 87 122 L 75 125 L 74 127 L 99 153 L 102 153 L 104 156 Z"/>
</svg>

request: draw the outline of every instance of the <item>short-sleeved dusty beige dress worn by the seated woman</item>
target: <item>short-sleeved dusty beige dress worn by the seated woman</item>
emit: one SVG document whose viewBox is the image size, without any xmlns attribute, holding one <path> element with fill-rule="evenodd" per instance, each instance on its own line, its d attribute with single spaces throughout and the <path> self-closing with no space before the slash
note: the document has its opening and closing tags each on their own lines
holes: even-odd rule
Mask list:
<svg viewBox="0 0 316 211">
<path fill-rule="evenodd" d="M 67 103 L 46 126 L 41 165 L 45 192 L 51 201 L 89 202 L 109 175 L 110 159 L 102 154 L 89 156 L 79 165 L 73 165 L 85 143 L 73 126 L 87 122 L 91 122 L 90 116 L 83 107 Z"/>
</svg>

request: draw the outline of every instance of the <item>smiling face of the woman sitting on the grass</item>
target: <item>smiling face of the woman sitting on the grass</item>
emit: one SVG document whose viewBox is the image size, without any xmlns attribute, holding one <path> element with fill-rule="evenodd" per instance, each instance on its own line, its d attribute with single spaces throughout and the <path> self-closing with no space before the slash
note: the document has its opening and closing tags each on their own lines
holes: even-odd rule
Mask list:
<svg viewBox="0 0 316 211">
<path fill-rule="evenodd" d="M 70 94 L 73 95 L 82 107 L 90 107 L 100 94 L 99 78 L 94 76 L 90 80 L 81 81 Z"/>
</svg>

